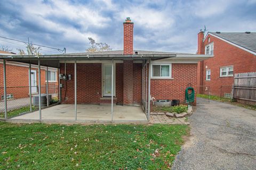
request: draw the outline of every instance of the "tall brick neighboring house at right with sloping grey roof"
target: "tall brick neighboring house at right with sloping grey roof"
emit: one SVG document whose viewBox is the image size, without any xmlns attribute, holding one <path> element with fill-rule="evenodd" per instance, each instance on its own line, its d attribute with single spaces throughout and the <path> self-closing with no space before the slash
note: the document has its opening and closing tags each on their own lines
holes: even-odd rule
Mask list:
<svg viewBox="0 0 256 170">
<path fill-rule="evenodd" d="M 200 94 L 231 94 L 235 73 L 256 72 L 256 32 L 198 33 L 197 54 L 213 58 L 198 62 Z"/>
</svg>

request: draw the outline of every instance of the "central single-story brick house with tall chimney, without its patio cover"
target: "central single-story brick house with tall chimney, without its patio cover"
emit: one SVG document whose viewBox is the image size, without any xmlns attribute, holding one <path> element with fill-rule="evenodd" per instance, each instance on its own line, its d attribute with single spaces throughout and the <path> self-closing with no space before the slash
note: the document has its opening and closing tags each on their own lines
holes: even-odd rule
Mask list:
<svg viewBox="0 0 256 170">
<path fill-rule="evenodd" d="M 123 56 L 123 60 L 114 61 L 114 103 L 121 105 L 140 105 L 142 103 L 142 66 L 143 61 L 126 60 L 125 57 L 161 56 L 165 59 L 151 62 L 151 98 L 154 100 L 179 99 L 185 101 L 187 87 L 197 86 L 197 62 L 209 58 L 206 55 L 152 52 L 133 49 L 133 22 L 125 20 L 124 49 L 109 52 L 73 53 L 81 56 Z M 165 56 L 170 56 L 166 58 Z M 66 67 L 65 67 L 66 62 Z M 110 103 L 111 62 L 77 61 L 77 103 Z M 74 76 L 74 61 L 60 61 L 60 73 Z M 147 73 L 148 73 L 147 66 Z M 145 78 L 146 79 L 146 78 Z M 74 79 L 61 80 L 61 101 L 74 104 Z M 145 85 L 146 87 L 146 85 Z M 195 102 L 196 103 L 196 102 Z M 194 104 L 195 104 L 194 103 Z"/>
</svg>

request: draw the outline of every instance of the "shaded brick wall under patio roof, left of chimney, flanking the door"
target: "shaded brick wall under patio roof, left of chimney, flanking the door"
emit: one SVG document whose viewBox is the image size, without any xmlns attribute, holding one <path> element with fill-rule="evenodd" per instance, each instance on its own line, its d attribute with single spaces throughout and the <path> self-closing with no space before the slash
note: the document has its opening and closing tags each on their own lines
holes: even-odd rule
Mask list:
<svg viewBox="0 0 256 170">
<path fill-rule="evenodd" d="M 77 64 L 77 103 L 99 104 L 106 101 L 102 97 L 102 68 L 101 63 Z M 60 64 L 60 73 L 64 73 L 64 64 Z M 74 64 L 67 64 L 67 74 L 71 74 L 71 80 L 63 81 L 61 89 L 62 103 L 74 104 Z M 67 90 L 66 90 L 67 88 Z M 65 93 L 67 100 L 65 100 Z M 116 98 L 117 104 L 123 104 L 123 64 L 116 64 Z"/>
</svg>

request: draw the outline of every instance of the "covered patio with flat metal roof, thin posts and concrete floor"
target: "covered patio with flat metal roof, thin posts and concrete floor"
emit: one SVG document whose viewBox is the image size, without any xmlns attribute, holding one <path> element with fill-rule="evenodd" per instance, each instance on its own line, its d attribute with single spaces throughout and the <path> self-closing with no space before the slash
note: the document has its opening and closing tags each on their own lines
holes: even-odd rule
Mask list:
<svg viewBox="0 0 256 170">
<path fill-rule="evenodd" d="M 10 122 L 43 122 L 43 121 L 67 121 L 67 122 L 148 122 L 150 118 L 150 69 L 152 60 L 161 60 L 164 58 L 175 57 L 175 54 L 144 54 L 144 55 L 123 55 L 123 54 L 108 54 L 108 55 L 94 55 L 94 54 L 61 54 L 61 55 L 42 55 L 42 56 L 31 56 L 31 55 L 13 55 L 13 56 L 0 56 L 3 59 L 4 64 L 4 103 L 5 103 L 5 118 L 4 120 Z M 59 93 L 59 105 L 55 106 L 41 106 L 41 80 L 38 81 L 38 94 L 39 94 L 39 106 L 38 111 L 33 112 L 31 107 L 32 95 L 30 85 L 30 112 L 21 114 L 19 116 L 8 118 L 7 116 L 7 100 L 6 100 L 6 61 L 16 61 L 22 63 L 37 64 L 40 73 L 41 66 L 57 67 L 60 68 L 60 63 L 65 63 L 65 74 L 66 74 L 66 62 L 74 64 L 74 103 L 72 104 L 61 104 L 61 94 Z M 132 61 L 141 63 L 141 104 L 139 106 L 127 106 L 127 105 L 115 105 L 114 104 L 114 63 L 120 61 Z M 88 62 L 88 63 L 103 63 L 107 62 L 111 64 L 111 95 L 109 96 L 111 103 L 108 105 L 92 105 L 92 104 L 78 104 L 77 98 L 77 63 Z M 29 72 L 31 67 L 29 67 Z M 40 75 L 39 75 L 40 78 Z M 31 78 L 29 79 L 31 84 Z M 46 80 L 48 81 L 48 80 Z M 61 89 L 62 84 L 59 84 Z M 60 90 L 61 91 L 61 90 Z M 48 92 L 46 91 L 48 96 Z M 48 99 L 48 97 L 47 97 Z"/>
</svg>

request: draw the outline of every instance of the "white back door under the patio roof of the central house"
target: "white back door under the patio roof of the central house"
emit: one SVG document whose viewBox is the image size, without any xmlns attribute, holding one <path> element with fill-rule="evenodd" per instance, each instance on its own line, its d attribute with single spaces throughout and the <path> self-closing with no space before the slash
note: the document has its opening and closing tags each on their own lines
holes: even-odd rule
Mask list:
<svg viewBox="0 0 256 170">
<path fill-rule="evenodd" d="M 114 65 L 114 94 L 116 96 L 116 74 L 115 74 L 115 65 Z M 102 92 L 103 96 L 111 96 L 111 75 L 112 75 L 112 64 L 102 64 Z"/>
</svg>

